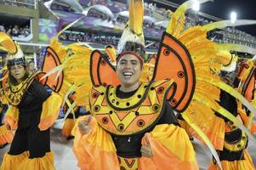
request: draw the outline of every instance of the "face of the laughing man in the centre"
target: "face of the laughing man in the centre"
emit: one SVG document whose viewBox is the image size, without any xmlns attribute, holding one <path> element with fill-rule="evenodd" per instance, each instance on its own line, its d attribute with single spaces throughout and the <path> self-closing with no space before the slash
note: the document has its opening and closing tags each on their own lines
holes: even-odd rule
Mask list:
<svg viewBox="0 0 256 170">
<path fill-rule="evenodd" d="M 117 62 L 117 77 L 126 87 L 139 82 L 141 71 L 139 59 L 133 54 L 125 54 Z"/>
</svg>

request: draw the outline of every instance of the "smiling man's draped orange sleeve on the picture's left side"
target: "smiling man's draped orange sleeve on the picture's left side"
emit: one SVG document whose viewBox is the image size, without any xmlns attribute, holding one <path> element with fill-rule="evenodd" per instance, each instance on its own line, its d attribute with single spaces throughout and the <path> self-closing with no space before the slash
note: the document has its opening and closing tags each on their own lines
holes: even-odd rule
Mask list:
<svg viewBox="0 0 256 170">
<path fill-rule="evenodd" d="M 82 170 L 119 170 L 111 135 L 98 125 L 94 117 L 89 122 L 89 133 L 82 134 L 77 127 L 82 120 L 88 120 L 88 116 L 79 117 L 72 132 L 75 136 L 73 151 L 77 156 L 77 166 Z"/>
</svg>

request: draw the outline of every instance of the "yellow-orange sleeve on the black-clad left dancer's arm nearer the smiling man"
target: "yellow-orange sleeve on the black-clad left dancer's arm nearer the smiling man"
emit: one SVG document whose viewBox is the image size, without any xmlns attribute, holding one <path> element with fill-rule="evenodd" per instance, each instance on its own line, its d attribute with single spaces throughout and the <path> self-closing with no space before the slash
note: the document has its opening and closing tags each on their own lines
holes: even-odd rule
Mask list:
<svg viewBox="0 0 256 170">
<path fill-rule="evenodd" d="M 48 127 L 51 127 L 54 124 L 59 116 L 61 104 L 62 97 L 54 92 L 43 102 L 41 120 L 38 125 L 41 131 L 48 129 Z"/>
</svg>

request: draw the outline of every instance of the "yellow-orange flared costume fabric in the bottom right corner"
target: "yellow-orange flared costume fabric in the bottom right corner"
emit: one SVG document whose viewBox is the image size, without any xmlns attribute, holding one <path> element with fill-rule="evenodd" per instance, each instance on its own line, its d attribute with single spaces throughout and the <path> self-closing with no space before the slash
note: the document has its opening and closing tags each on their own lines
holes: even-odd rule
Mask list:
<svg viewBox="0 0 256 170">
<path fill-rule="evenodd" d="M 255 170 L 251 156 L 247 150 L 243 150 L 245 160 L 240 161 L 220 161 L 224 170 Z M 218 165 L 213 164 L 213 161 L 208 167 L 208 170 L 220 170 Z"/>
</svg>

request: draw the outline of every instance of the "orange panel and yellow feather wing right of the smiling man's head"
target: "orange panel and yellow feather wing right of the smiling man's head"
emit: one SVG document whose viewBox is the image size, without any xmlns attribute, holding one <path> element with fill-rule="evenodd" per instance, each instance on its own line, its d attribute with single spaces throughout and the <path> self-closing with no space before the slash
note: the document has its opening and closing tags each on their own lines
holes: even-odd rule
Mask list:
<svg viewBox="0 0 256 170">
<path fill-rule="evenodd" d="M 170 100 L 170 104 L 176 111 L 184 111 L 182 116 L 196 130 L 200 138 L 204 139 L 214 155 L 214 148 L 218 149 L 219 141 L 223 144 L 225 135 L 214 133 L 215 129 L 209 129 L 206 126 L 208 122 L 213 122 L 214 111 L 230 119 L 251 136 L 247 128 L 235 116 L 219 106 L 217 103 L 219 90 L 225 90 L 239 99 L 254 114 L 255 109 L 241 94 L 221 82 L 219 78 L 220 68 L 228 65 L 232 59 L 230 50 L 246 51 L 247 49 L 233 44 L 216 44 L 207 39 L 207 32 L 230 25 L 251 25 L 255 24 L 255 20 L 240 20 L 236 24 L 225 20 L 185 30 L 185 10 L 191 8 L 192 3 L 192 1 L 183 3 L 172 14 L 167 31 L 162 36 L 153 79 L 160 80 L 164 77 L 174 79 L 177 83 L 177 92 Z"/>
</svg>

